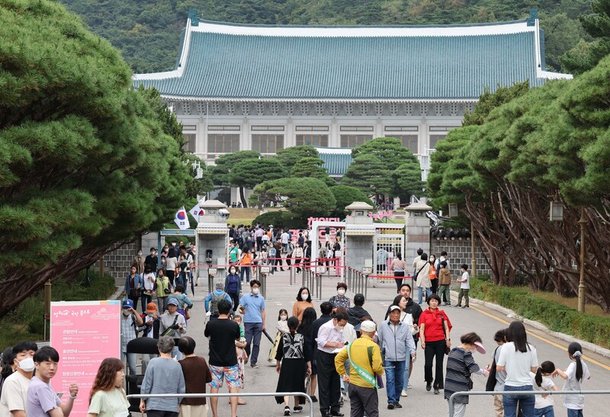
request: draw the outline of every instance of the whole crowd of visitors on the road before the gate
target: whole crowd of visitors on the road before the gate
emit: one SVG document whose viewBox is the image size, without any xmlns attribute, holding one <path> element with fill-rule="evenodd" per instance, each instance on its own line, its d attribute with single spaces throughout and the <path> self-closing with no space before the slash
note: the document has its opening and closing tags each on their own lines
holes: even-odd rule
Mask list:
<svg viewBox="0 0 610 417">
<path fill-rule="evenodd" d="M 194 245 L 166 246 L 161 259 L 154 248 L 143 259 L 138 253 L 125 279 L 120 320 L 122 358 L 106 358 L 101 362 L 89 393 L 88 417 L 129 415 L 125 374 L 127 370 L 136 375 L 138 366 L 135 354 L 127 346 L 141 336 L 156 339 L 158 350 L 158 355 L 146 358 L 140 368 L 141 393 L 174 394 L 143 398 L 139 404 L 141 412 L 152 417 L 179 414 L 203 417 L 207 415 L 206 399 L 183 398 L 181 394 L 205 393 L 207 388 L 218 393 L 226 383 L 229 393 L 234 394 L 229 404 L 231 416 L 236 417 L 238 406 L 246 403 L 240 397 L 247 380 L 246 368 L 259 367 L 261 338 L 268 336 L 267 305 L 261 282 L 249 279 L 244 285 L 244 279 L 250 275 L 244 272 L 249 264 L 243 260 L 248 254 L 260 256 L 258 249 L 268 250 L 278 243 L 278 250 L 284 251 L 284 233 L 274 235 L 270 229 L 235 228 L 229 250 L 231 266 L 224 280 L 216 282 L 214 290 L 204 299 L 207 360 L 195 355 L 195 340 L 187 334 L 192 332 L 188 321 L 193 302 L 186 288 L 193 281 Z M 300 235 L 297 247 L 301 238 L 303 245 L 307 245 L 307 236 Z M 388 410 L 403 407 L 401 401 L 408 396 L 419 348 L 424 357 L 425 390 L 434 395 L 443 391 L 448 400 L 453 393 L 468 391 L 472 389 L 472 375 L 480 374 L 487 378 L 488 390 L 504 392 L 494 397 L 498 417 L 518 414 L 548 417 L 554 415 L 552 397 L 519 392 L 556 390 L 553 379 L 558 377 L 565 380 L 564 389 L 574 391 L 564 400 L 568 416 L 582 416 L 584 399 L 578 391 L 590 373 L 578 343 L 568 347 L 570 364 L 565 370 L 549 361 L 538 362 L 537 351 L 528 343 L 525 327 L 519 321 L 496 333 L 498 347 L 493 363 L 488 366 L 480 366 L 473 356 L 474 352 L 485 353 L 477 333 L 463 334 L 459 343 L 452 344 L 453 325 L 450 314 L 443 310 L 451 306 L 448 288 L 453 279 L 448 263 L 445 252 L 436 259 L 418 251 L 410 265 L 412 288 L 403 282 L 409 265 L 397 253 L 390 264 L 397 293 L 388 300 L 384 317 L 373 317 L 366 310 L 363 294 L 350 298 L 345 282 L 338 282 L 336 294 L 318 306 L 312 301 L 310 289 L 300 288 L 292 306 L 279 310 L 273 348 L 264 358 L 275 361 L 276 392 L 307 393 L 319 406 L 322 417 L 342 417 L 341 407 L 348 399 L 351 416 L 376 417 L 382 387 L 387 394 Z M 468 266 L 462 265 L 456 279 L 460 284 L 457 307 L 469 307 L 469 279 Z M 139 301 L 141 312 L 137 309 Z M 68 416 L 79 390 L 71 385 L 67 387 L 69 395 L 61 399 L 53 391 L 49 382 L 59 360 L 55 349 L 48 346 L 38 349 L 32 342 L 5 351 L 0 417 Z M 298 395 L 278 395 L 275 400 L 282 405 L 284 416 L 301 412 L 305 404 L 305 399 Z M 457 396 L 453 416 L 464 416 L 467 404 L 467 395 Z M 212 397 L 209 405 L 213 417 L 218 417 L 219 399 Z"/>
</svg>

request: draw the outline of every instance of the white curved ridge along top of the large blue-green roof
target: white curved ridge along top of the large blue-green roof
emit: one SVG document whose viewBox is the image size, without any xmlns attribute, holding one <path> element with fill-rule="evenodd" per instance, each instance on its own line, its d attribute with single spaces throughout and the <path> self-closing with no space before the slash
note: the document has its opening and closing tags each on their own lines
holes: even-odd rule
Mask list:
<svg viewBox="0 0 610 417">
<path fill-rule="evenodd" d="M 450 25 L 255 25 L 200 20 L 195 33 L 279 37 L 409 37 L 484 36 L 532 32 L 527 20 Z"/>
</svg>

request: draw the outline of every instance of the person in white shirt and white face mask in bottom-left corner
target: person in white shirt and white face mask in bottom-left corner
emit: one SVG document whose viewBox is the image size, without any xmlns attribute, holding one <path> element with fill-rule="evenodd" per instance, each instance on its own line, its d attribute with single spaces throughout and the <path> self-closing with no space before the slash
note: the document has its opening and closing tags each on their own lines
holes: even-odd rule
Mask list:
<svg viewBox="0 0 610 417">
<path fill-rule="evenodd" d="M 28 399 L 28 387 L 34 374 L 34 353 L 38 346 L 34 342 L 21 342 L 13 346 L 12 373 L 2 386 L 0 395 L 1 417 L 25 417 L 25 404 Z"/>
</svg>

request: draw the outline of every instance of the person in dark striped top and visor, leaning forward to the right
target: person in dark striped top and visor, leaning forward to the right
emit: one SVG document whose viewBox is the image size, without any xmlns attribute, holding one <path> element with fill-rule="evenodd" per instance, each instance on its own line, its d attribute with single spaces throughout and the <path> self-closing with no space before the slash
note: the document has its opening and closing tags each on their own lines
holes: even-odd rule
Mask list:
<svg viewBox="0 0 610 417">
<path fill-rule="evenodd" d="M 485 353 L 485 348 L 481 343 L 481 338 L 476 333 L 466 333 L 460 338 L 462 344 L 453 348 L 447 356 L 447 373 L 445 376 L 445 399 L 455 392 L 470 391 L 472 389 L 472 374 L 487 375 L 485 369 L 481 369 L 474 361 L 472 352 L 475 350 L 481 354 Z M 455 397 L 453 417 L 463 417 L 466 413 L 468 404 L 467 395 Z"/>
</svg>

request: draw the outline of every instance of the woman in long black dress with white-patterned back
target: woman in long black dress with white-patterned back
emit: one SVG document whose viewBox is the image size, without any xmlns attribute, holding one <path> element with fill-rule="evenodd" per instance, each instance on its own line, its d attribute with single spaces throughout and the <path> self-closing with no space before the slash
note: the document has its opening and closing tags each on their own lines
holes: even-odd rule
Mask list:
<svg viewBox="0 0 610 417">
<path fill-rule="evenodd" d="M 290 317 L 288 333 L 283 333 L 275 355 L 275 369 L 280 374 L 276 392 L 305 392 L 305 376 L 311 373 L 311 361 L 305 357 L 305 336 L 297 333 L 299 319 Z M 284 403 L 284 415 L 291 415 L 288 396 L 275 397 L 278 404 Z M 294 398 L 294 411 L 300 412 L 299 397 Z"/>
</svg>

